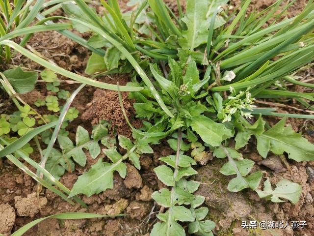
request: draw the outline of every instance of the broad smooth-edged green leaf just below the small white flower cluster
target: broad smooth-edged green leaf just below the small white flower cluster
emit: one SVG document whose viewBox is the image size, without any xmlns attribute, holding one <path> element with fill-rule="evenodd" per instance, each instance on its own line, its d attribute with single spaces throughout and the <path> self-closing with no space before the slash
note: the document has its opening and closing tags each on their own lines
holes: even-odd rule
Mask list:
<svg viewBox="0 0 314 236">
<path fill-rule="evenodd" d="M 222 141 L 232 137 L 232 131 L 225 124 L 216 123 L 205 116 L 194 117 L 191 121 L 193 131 L 198 133 L 205 143 L 217 147 Z"/>
</svg>

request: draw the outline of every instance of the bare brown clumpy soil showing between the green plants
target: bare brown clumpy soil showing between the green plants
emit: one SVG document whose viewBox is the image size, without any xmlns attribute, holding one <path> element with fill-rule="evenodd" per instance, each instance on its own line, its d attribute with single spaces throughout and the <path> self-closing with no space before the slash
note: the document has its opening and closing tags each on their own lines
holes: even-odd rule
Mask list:
<svg viewBox="0 0 314 236">
<path fill-rule="evenodd" d="M 120 3 L 126 7 L 126 0 Z M 165 0 L 178 15 L 176 0 Z M 184 1 L 181 0 L 183 8 Z M 264 9 L 274 0 L 253 0 L 252 6 Z M 233 4 L 238 4 L 238 0 L 233 0 Z M 303 9 L 306 0 L 296 1 L 290 10 L 290 15 L 295 15 Z M 253 9 L 253 8 L 250 8 Z M 80 45 L 61 34 L 50 31 L 35 34 L 28 45 L 30 50 L 35 50 L 53 63 L 84 75 L 84 68 L 90 53 Z M 16 64 L 24 64 L 32 69 L 42 69 L 38 64 L 17 55 L 13 61 Z M 312 72 L 311 72 L 312 73 Z M 305 77 L 306 75 L 304 75 Z M 128 76 L 115 75 L 111 77 L 98 78 L 98 80 L 120 85 L 125 85 L 129 81 Z M 62 85 L 64 89 L 73 91 L 77 85 Z M 22 96 L 27 103 L 34 103 L 38 97 L 47 95 L 43 88 L 39 86 L 37 90 Z M 298 89 L 295 87 L 294 89 Z M 41 91 L 41 92 L 39 92 Z M 128 93 L 122 93 L 123 106 L 131 124 L 138 128 L 142 124 L 134 118 L 133 101 L 128 99 Z M 0 101 L 1 103 L 1 101 Z M 131 129 L 126 123 L 120 108 L 117 92 L 104 89 L 94 89 L 86 86 L 74 100 L 73 105 L 79 110 L 80 118 L 70 124 L 70 132 L 73 135 L 78 125 L 83 125 L 87 130 L 91 130 L 91 125 L 101 119 L 110 120 L 113 128 L 119 134 L 131 136 Z M 293 101 L 291 104 L 293 105 Z M 288 109 L 283 108 L 282 112 Z M 270 118 L 269 123 L 278 122 L 279 118 Z M 313 141 L 312 121 L 289 118 L 288 123 L 299 132 L 302 132 Z M 140 158 L 142 169 L 136 170 L 127 164 L 128 172 L 126 179 L 114 174 L 114 187 L 98 195 L 89 198 L 81 196 L 89 209 L 81 208 L 79 205 L 70 205 L 47 189 L 43 189 L 39 196 L 36 194 L 36 181 L 21 172 L 7 159 L 0 159 L 0 234 L 4 236 L 16 231 L 34 219 L 49 216 L 60 212 L 91 212 L 100 214 L 127 213 L 125 217 L 89 219 L 89 220 L 45 220 L 32 227 L 26 236 L 149 236 L 152 225 L 156 222 L 156 213 L 159 207 L 154 205 L 151 194 L 163 188 L 164 185 L 157 179 L 153 169 L 158 164 L 158 157 L 173 154 L 166 142 L 153 147 L 154 154 L 144 154 Z M 270 156 L 265 160 L 256 153 L 255 148 L 249 147 L 243 150 L 244 155 L 254 160 L 255 170 L 264 171 L 265 177 L 269 177 L 272 184 L 278 183 L 281 179 L 287 178 L 302 184 L 302 195 L 300 202 L 296 205 L 290 203 L 274 204 L 261 200 L 258 195 L 250 190 L 241 193 L 227 191 L 229 177 L 219 173 L 219 168 L 226 160 L 210 160 L 209 163 L 201 167 L 196 180 L 202 182 L 197 194 L 206 197 L 206 205 L 209 207 L 209 218 L 216 222 L 214 233 L 218 236 L 270 236 L 268 231 L 243 230 L 242 220 L 275 220 L 275 221 L 307 221 L 304 230 L 276 230 L 278 236 L 313 236 L 314 235 L 314 162 L 295 163 L 289 162 L 291 172 L 276 156 Z M 66 173 L 61 182 L 68 188 L 72 188 L 78 176 L 84 173 L 94 160 L 87 155 L 85 168 L 77 167 L 73 173 Z M 38 155 L 33 154 L 33 159 L 38 160 Z M 98 158 L 102 158 L 102 154 Z M 26 163 L 29 169 L 33 170 Z M 314 173 L 314 172 L 313 172 Z M 213 182 L 214 181 L 214 182 Z"/>
</svg>

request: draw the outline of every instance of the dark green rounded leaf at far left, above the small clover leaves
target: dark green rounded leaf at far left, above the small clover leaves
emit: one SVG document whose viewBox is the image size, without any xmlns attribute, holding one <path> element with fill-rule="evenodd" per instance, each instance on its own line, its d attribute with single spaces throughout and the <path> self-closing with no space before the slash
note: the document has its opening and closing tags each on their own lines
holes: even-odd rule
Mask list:
<svg viewBox="0 0 314 236">
<path fill-rule="evenodd" d="M 37 72 L 24 72 L 20 66 L 3 72 L 17 93 L 30 92 L 35 88 Z"/>
</svg>

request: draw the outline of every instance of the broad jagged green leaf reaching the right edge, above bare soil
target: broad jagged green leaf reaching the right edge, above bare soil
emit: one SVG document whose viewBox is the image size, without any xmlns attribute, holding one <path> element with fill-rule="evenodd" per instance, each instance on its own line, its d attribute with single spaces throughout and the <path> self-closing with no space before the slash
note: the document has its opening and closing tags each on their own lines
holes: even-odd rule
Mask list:
<svg viewBox="0 0 314 236">
<path fill-rule="evenodd" d="M 288 157 L 295 161 L 313 161 L 314 145 L 303 138 L 301 133 L 296 133 L 290 125 L 285 127 L 285 122 L 286 118 L 283 118 L 262 135 L 257 135 L 260 147 L 258 150 L 260 152 L 262 149 L 260 152 L 262 157 L 266 158 L 270 150 L 277 155 L 287 152 Z"/>
</svg>

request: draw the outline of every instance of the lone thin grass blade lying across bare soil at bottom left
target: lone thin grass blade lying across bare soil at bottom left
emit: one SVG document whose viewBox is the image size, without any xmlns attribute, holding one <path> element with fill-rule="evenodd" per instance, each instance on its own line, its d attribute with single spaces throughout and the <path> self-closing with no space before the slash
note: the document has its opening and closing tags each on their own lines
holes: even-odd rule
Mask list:
<svg viewBox="0 0 314 236">
<path fill-rule="evenodd" d="M 125 214 L 119 215 L 101 215 L 101 214 L 93 214 L 93 213 L 85 213 L 85 212 L 68 212 L 68 213 L 60 213 L 51 216 L 47 216 L 44 218 L 40 218 L 34 220 L 27 225 L 21 227 L 17 231 L 15 231 L 11 236 L 23 236 L 27 230 L 32 228 L 33 226 L 37 225 L 38 223 L 46 220 L 46 219 L 59 219 L 59 220 L 76 220 L 76 219 L 91 219 L 91 218 L 104 218 L 104 217 L 118 217 L 118 216 L 125 216 Z"/>
</svg>

